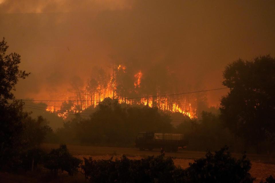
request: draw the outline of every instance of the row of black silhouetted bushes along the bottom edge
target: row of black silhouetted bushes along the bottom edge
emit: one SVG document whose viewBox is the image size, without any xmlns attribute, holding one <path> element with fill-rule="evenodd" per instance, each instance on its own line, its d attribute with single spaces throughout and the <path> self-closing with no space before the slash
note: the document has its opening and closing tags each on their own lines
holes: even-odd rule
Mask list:
<svg viewBox="0 0 275 183">
<path fill-rule="evenodd" d="M 225 146 L 212 154 L 206 153 L 205 158 L 189 163 L 189 167 L 176 167 L 172 157 L 148 156 L 140 160 L 130 160 L 125 155 L 119 160 L 93 160 L 84 158 L 84 162 L 73 157 L 66 145 L 53 149 L 50 153 L 40 149 L 29 150 L 21 154 L 13 172 L 29 174 L 37 181 L 53 182 L 63 171 L 75 176 L 80 171 L 88 182 L 243 182 L 252 183 L 249 170 L 250 161 L 245 154 L 238 160 L 233 158 Z M 36 174 L 30 174 L 30 171 Z M 80 181 L 76 177 L 76 182 Z M 82 182 L 87 182 L 81 180 Z M 270 176 L 266 183 L 274 183 Z"/>
</svg>

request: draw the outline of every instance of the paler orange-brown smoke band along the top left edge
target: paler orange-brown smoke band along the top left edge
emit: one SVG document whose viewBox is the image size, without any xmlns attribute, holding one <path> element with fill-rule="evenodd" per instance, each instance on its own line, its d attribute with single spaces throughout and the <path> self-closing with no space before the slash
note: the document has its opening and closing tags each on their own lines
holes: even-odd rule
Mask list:
<svg viewBox="0 0 275 183">
<path fill-rule="evenodd" d="M 82 13 L 131 8 L 126 0 L 1 0 L 2 13 Z"/>
</svg>

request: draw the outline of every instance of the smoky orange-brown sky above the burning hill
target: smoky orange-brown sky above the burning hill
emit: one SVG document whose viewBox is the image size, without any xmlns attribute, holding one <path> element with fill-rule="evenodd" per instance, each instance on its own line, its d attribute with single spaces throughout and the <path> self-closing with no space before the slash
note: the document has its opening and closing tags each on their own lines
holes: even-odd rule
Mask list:
<svg viewBox="0 0 275 183">
<path fill-rule="evenodd" d="M 238 58 L 275 57 L 275 1 L 0 0 L 0 36 L 31 75 L 16 98 L 55 100 L 97 65 L 165 65 L 200 89 L 223 87 Z M 190 92 L 186 88 L 182 92 Z M 227 90 L 208 92 L 219 104 Z"/>
</svg>

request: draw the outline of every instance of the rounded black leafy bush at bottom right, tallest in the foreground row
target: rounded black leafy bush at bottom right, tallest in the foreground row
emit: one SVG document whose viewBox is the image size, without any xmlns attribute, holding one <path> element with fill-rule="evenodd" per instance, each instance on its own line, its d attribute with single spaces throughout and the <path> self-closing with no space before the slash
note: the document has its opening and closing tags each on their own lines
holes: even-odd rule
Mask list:
<svg viewBox="0 0 275 183">
<path fill-rule="evenodd" d="M 253 182 L 255 178 L 248 171 L 251 168 L 250 161 L 245 155 L 236 160 L 231 157 L 228 147 L 225 146 L 215 155 L 207 152 L 206 158 L 190 163 L 185 171 L 186 182 Z"/>
</svg>

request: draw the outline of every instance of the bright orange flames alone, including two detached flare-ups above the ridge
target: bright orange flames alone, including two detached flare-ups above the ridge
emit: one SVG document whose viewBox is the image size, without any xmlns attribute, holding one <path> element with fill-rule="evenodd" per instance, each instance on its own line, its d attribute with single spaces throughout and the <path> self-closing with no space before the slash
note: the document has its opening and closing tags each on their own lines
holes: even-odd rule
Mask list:
<svg viewBox="0 0 275 183">
<path fill-rule="evenodd" d="M 126 72 L 126 67 L 119 65 L 117 67 L 117 71 L 123 69 L 123 72 Z M 138 94 L 140 90 L 140 84 L 142 82 L 142 71 L 138 71 L 134 75 L 134 90 L 133 93 Z M 121 96 L 121 94 L 117 91 L 117 80 L 116 75 L 112 75 L 109 80 L 107 81 L 106 85 L 103 87 L 102 85 L 98 84 L 92 90 L 89 90 L 89 87 L 82 86 L 79 88 L 82 93 L 79 92 L 72 92 L 67 94 L 62 94 L 62 99 L 60 100 L 71 100 L 70 105 L 64 108 L 60 107 L 48 107 L 47 111 L 49 112 L 56 112 L 59 117 L 66 119 L 69 114 L 76 114 L 81 113 L 83 110 L 87 108 L 95 108 L 100 102 L 102 102 L 105 98 L 117 99 L 119 104 L 137 104 L 137 105 L 144 105 L 149 107 L 156 107 L 162 111 L 170 111 L 170 112 L 179 112 L 184 116 L 188 116 L 191 119 L 197 118 L 196 116 L 196 108 L 191 107 L 190 102 L 187 102 L 185 96 L 161 96 L 161 97 L 144 97 L 140 99 L 127 99 L 127 96 Z M 156 94 L 161 95 L 161 94 Z M 131 98 L 131 97 L 129 97 Z M 81 100 L 81 101 L 80 101 Z M 189 101 L 189 98 L 188 98 Z M 192 101 L 196 101 L 193 98 Z M 48 105 L 56 106 L 56 104 L 50 103 Z M 59 111 L 61 110 L 61 111 Z M 86 116 L 86 115 L 85 115 Z"/>
</svg>

